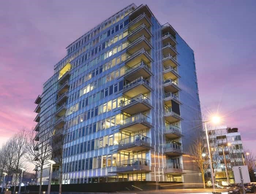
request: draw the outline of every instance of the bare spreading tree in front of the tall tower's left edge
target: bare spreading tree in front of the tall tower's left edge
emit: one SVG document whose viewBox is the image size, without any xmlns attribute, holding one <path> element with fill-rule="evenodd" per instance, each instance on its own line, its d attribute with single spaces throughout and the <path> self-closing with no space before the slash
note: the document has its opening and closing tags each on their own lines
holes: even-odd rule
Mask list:
<svg viewBox="0 0 256 194">
<path fill-rule="evenodd" d="M 34 140 L 36 135 L 37 133 L 35 131 L 29 132 L 26 158 L 27 160 L 35 164 L 35 166 L 40 167 L 39 194 L 41 194 L 43 167 L 47 160 L 51 158 L 52 148 L 49 144 L 51 134 L 39 134 L 39 141 Z"/>
</svg>

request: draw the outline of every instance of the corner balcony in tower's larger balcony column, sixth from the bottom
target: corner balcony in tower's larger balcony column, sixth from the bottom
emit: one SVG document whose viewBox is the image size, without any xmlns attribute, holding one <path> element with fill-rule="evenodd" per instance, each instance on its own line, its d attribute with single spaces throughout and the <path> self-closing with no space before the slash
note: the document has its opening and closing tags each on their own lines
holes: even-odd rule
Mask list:
<svg viewBox="0 0 256 194">
<path fill-rule="evenodd" d="M 132 81 L 139 77 L 148 78 L 151 75 L 153 75 L 153 73 L 151 73 L 151 67 L 144 61 L 141 61 L 131 67 L 125 66 L 124 78 L 127 81 Z"/>
</svg>

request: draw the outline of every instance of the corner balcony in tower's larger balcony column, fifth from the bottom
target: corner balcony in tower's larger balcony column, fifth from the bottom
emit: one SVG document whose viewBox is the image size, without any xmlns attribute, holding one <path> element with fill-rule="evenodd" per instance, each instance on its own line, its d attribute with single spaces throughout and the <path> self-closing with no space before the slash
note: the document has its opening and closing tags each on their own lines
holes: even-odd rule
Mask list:
<svg viewBox="0 0 256 194">
<path fill-rule="evenodd" d="M 124 85 L 123 94 L 130 98 L 152 91 L 147 79 L 140 77 Z"/>
</svg>

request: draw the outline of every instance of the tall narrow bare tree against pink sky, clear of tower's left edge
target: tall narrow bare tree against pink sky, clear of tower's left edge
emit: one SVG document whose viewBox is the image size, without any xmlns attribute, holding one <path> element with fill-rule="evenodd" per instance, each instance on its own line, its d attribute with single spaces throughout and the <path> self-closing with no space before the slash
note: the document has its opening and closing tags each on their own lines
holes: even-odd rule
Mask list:
<svg viewBox="0 0 256 194">
<path fill-rule="evenodd" d="M 13 137 L 13 152 L 14 152 L 14 193 L 17 184 L 18 174 L 20 172 L 19 168 L 25 167 L 24 156 L 27 152 L 27 132 L 22 129 L 19 133 L 16 133 Z"/>
</svg>

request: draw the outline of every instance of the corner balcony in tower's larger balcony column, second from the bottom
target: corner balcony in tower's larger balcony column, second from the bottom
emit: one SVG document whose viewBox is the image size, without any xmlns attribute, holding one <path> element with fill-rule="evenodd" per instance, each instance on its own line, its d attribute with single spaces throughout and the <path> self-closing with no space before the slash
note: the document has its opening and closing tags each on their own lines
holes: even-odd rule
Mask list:
<svg viewBox="0 0 256 194">
<path fill-rule="evenodd" d="M 151 139 L 144 135 L 133 135 L 119 141 L 117 150 L 140 151 L 151 149 Z"/>
</svg>

